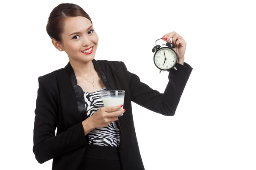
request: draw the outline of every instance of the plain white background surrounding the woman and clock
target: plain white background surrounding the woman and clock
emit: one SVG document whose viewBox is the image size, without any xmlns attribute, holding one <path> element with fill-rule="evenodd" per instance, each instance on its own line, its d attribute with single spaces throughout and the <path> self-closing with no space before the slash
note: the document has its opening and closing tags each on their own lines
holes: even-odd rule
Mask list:
<svg viewBox="0 0 256 170">
<path fill-rule="evenodd" d="M 1 170 L 50 170 L 32 152 L 38 77 L 68 57 L 47 35 L 50 12 L 76 3 L 99 36 L 95 59 L 125 62 L 163 93 L 168 72 L 153 63 L 155 40 L 176 31 L 193 71 L 175 116 L 132 103 L 146 170 L 255 170 L 255 5 L 243 1 L 5 1 L 1 3 Z M 160 41 L 158 41 L 160 42 Z M 143 64 L 141 64 L 143 63 Z"/>
</svg>

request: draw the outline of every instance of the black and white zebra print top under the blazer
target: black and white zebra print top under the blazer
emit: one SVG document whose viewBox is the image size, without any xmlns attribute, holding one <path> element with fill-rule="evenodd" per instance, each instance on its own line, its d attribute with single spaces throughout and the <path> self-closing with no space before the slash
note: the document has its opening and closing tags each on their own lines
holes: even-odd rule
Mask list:
<svg viewBox="0 0 256 170">
<path fill-rule="evenodd" d="M 107 89 L 104 87 L 96 92 L 84 93 L 87 116 L 92 116 L 93 113 L 104 106 L 100 95 L 101 91 L 107 91 Z M 89 144 L 118 147 L 120 142 L 120 129 L 117 123 L 113 121 L 106 127 L 96 128 L 90 131 L 88 138 Z"/>
</svg>

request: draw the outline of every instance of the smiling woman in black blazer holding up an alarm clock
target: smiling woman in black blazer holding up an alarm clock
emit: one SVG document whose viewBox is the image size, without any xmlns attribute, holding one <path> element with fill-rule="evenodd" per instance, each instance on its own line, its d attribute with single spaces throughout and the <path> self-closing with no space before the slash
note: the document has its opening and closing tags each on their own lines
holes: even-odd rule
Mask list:
<svg viewBox="0 0 256 170">
<path fill-rule="evenodd" d="M 184 39 L 175 32 L 163 36 L 177 45 L 179 63 L 177 71 L 169 71 L 168 85 L 160 94 L 140 82 L 123 62 L 94 59 L 98 36 L 81 7 L 55 7 L 47 33 L 69 62 L 38 78 L 33 147 L 37 161 L 53 159 L 53 170 L 144 170 L 131 101 L 166 116 L 175 114 L 192 71 L 184 62 Z M 122 105 L 103 107 L 99 93 L 106 90 L 125 90 L 126 110 L 120 110 Z"/>
</svg>

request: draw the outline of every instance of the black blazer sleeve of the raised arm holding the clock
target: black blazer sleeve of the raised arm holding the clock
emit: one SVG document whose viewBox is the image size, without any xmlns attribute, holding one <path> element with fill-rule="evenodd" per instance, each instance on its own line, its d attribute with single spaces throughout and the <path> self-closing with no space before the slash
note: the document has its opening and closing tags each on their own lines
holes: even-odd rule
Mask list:
<svg viewBox="0 0 256 170">
<path fill-rule="evenodd" d="M 129 84 L 131 101 L 165 116 L 175 115 L 180 97 L 193 69 L 189 64 L 177 63 L 177 70 L 169 71 L 169 82 L 163 94 L 140 82 L 140 78 L 129 72 L 123 62 L 122 65 Z"/>
</svg>

